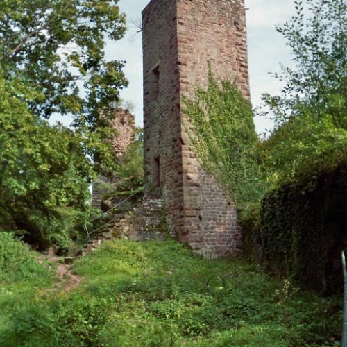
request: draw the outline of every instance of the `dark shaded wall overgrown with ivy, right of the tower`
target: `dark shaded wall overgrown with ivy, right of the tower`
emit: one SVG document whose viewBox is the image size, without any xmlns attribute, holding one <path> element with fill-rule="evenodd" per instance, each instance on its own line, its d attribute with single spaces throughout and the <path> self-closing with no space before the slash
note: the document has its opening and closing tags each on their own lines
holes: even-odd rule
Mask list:
<svg viewBox="0 0 347 347">
<path fill-rule="evenodd" d="M 343 287 L 341 251 L 347 248 L 347 167 L 310 184 L 287 185 L 242 221 L 246 252 L 278 276 L 322 294 Z"/>
</svg>

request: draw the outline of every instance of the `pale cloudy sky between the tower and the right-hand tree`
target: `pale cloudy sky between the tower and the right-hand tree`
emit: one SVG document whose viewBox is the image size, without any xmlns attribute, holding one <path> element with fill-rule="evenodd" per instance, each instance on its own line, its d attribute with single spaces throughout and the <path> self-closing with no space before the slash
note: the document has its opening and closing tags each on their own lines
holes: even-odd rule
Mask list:
<svg viewBox="0 0 347 347">
<path fill-rule="evenodd" d="M 278 94 L 282 83 L 269 75 L 279 70 L 280 62 L 291 65 L 290 51 L 276 31 L 276 25 L 285 24 L 294 14 L 292 0 L 246 0 L 248 60 L 251 96 L 254 107 L 261 104 L 264 92 Z M 258 133 L 272 128 L 272 122 L 255 117 Z"/>
</svg>

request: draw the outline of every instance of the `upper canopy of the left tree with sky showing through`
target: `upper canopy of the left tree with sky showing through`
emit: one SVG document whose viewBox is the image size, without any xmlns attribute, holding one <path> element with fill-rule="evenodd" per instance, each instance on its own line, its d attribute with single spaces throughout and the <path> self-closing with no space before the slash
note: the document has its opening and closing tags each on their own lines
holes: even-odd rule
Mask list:
<svg viewBox="0 0 347 347">
<path fill-rule="evenodd" d="M 105 60 L 105 38 L 126 30 L 118 0 L 3 0 L 0 67 L 35 87 L 35 115 L 75 116 L 75 126 L 95 130 L 127 85 L 123 63 Z M 85 93 L 83 95 L 83 88 Z M 101 122 L 102 123 L 102 122 Z"/>
</svg>

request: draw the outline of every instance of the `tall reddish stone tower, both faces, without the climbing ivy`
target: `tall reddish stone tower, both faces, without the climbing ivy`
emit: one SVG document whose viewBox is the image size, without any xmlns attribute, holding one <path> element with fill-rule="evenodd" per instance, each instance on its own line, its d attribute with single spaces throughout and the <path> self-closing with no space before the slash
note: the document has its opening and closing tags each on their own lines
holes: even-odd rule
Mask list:
<svg viewBox="0 0 347 347">
<path fill-rule="evenodd" d="M 182 96 L 237 77 L 249 97 L 244 0 L 152 0 L 142 12 L 146 181 L 162 194 L 173 235 L 198 255 L 242 249 L 236 210 L 196 160 Z"/>
</svg>

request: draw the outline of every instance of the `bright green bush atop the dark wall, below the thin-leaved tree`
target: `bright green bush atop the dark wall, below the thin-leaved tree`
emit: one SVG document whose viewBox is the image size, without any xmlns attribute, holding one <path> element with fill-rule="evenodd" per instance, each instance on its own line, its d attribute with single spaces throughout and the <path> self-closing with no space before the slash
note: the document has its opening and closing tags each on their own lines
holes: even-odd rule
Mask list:
<svg viewBox="0 0 347 347">
<path fill-rule="evenodd" d="M 301 183 L 347 162 L 347 131 L 328 115 L 317 123 L 302 115 L 275 130 L 262 149 L 273 187 Z"/>
</svg>

